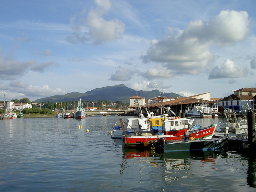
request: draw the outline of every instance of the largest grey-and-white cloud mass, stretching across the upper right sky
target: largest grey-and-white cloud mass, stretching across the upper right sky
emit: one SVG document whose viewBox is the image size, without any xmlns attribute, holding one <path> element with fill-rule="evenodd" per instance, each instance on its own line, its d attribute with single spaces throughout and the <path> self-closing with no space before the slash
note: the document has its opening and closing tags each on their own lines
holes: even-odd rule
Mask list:
<svg viewBox="0 0 256 192">
<path fill-rule="evenodd" d="M 249 32 L 246 11 L 223 10 L 209 22 L 191 21 L 184 30 L 168 28 L 161 40 L 152 40 L 143 62 L 162 63 L 169 76 L 198 74 L 212 64 L 212 46 L 231 46 L 245 39 Z"/>
</svg>

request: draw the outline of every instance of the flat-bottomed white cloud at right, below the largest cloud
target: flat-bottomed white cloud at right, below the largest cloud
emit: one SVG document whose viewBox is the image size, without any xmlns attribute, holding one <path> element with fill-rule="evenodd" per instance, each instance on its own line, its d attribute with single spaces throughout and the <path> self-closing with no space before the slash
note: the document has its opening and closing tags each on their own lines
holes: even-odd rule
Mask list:
<svg viewBox="0 0 256 192">
<path fill-rule="evenodd" d="M 247 67 L 240 67 L 230 59 L 225 60 L 221 66 L 215 66 L 210 70 L 208 79 L 239 78 L 249 73 Z"/>
</svg>

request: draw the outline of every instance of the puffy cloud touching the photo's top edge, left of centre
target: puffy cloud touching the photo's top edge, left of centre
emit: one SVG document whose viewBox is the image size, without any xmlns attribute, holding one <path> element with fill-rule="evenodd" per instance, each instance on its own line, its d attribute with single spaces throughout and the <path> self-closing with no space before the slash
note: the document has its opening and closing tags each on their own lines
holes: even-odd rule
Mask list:
<svg viewBox="0 0 256 192">
<path fill-rule="evenodd" d="M 77 14 L 70 17 L 74 32 L 66 38 L 67 41 L 77 43 L 92 40 L 95 44 L 102 44 L 106 41 L 115 41 L 121 37 L 125 24 L 117 18 L 110 20 L 103 18 L 103 15 L 108 13 L 111 2 L 109 0 L 95 0 L 95 3 L 97 7 L 88 12 L 86 19 L 79 18 L 78 22 L 76 22 Z M 84 13 L 85 11 L 80 16 L 84 15 Z M 85 31 L 82 31 L 82 28 L 85 28 Z"/>
</svg>

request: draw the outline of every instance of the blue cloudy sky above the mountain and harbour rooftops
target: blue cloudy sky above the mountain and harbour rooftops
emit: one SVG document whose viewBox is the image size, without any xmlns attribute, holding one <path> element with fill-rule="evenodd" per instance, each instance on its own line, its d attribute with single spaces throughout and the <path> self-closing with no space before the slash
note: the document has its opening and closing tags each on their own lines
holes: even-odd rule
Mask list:
<svg viewBox="0 0 256 192">
<path fill-rule="evenodd" d="M 256 88 L 255 7 L 254 0 L 2 0 L 0 100 L 121 83 L 184 97 Z"/>
</svg>

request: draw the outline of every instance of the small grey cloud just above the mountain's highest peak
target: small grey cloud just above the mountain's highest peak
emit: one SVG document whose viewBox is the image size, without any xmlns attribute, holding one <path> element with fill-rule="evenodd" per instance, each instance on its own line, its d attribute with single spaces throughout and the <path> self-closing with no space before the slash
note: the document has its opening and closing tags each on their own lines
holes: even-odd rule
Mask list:
<svg viewBox="0 0 256 192">
<path fill-rule="evenodd" d="M 132 78 L 132 76 L 135 74 L 135 70 L 132 69 L 126 69 L 121 66 L 118 67 L 118 70 L 111 74 L 111 77 L 109 80 L 112 81 L 128 81 Z"/>
</svg>

